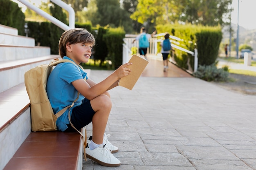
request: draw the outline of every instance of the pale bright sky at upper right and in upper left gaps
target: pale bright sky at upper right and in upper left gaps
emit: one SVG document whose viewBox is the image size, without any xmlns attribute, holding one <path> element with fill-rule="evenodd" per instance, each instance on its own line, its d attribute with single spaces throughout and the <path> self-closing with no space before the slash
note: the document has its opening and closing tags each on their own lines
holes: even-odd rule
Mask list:
<svg viewBox="0 0 256 170">
<path fill-rule="evenodd" d="M 17 0 L 13 1 L 20 4 Z M 31 0 L 36 4 L 40 4 L 41 1 L 45 2 L 46 0 Z M 232 23 L 237 24 L 239 15 L 239 26 L 243 26 L 245 29 L 256 29 L 256 0 L 233 0 L 231 7 L 233 8 L 231 13 Z"/>
</svg>

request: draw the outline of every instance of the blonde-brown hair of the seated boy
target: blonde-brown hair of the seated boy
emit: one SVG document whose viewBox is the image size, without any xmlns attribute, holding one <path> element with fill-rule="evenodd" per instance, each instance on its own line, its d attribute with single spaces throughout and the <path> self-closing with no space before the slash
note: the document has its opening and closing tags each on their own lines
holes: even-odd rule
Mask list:
<svg viewBox="0 0 256 170">
<path fill-rule="evenodd" d="M 76 44 L 76 43 L 90 43 L 92 46 L 95 44 L 94 36 L 88 32 L 86 29 L 75 28 L 65 31 L 58 42 L 58 53 L 63 58 L 66 55 L 66 45 L 67 43 Z"/>
</svg>

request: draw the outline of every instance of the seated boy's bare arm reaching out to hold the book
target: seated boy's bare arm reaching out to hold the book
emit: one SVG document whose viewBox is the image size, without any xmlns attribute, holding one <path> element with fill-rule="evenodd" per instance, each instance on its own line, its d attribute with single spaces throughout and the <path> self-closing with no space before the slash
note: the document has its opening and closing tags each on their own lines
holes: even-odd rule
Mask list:
<svg viewBox="0 0 256 170">
<path fill-rule="evenodd" d="M 88 82 L 84 81 L 84 79 L 78 79 L 72 82 L 74 88 L 76 88 L 79 93 L 81 93 L 84 97 L 89 100 L 94 99 L 95 97 L 103 94 L 104 92 L 108 91 L 109 89 L 117 86 L 117 81 L 130 74 L 130 68 L 126 66 L 130 65 L 131 63 L 126 63 L 121 65 L 117 70 L 115 70 L 112 74 L 110 74 L 106 79 L 98 84 L 94 84 L 92 80 L 88 80 Z M 92 85 L 92 86 L 90 86 Z"/>
</svg>

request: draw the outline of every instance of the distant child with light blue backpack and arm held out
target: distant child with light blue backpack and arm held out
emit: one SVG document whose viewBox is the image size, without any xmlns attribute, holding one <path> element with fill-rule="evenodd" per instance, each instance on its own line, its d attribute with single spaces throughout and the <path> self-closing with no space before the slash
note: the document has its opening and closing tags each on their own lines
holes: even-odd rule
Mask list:
<svg viewBox="0 0 256 170">
<path fill-rule="evenodd" d="M 149 39 L 155 35 L 156 31 L 154 31 L 152 34 L 146 33 L 145 27 L 142 27 L 140 29 L 140 34 L 137 35 L 135 40 L 132 41 L 134 43 L 136 40 L 139 41 L 139 54 L 144 56 L 144 58 L 147 60 L 147 50 L 149 47 Z"/>
</svg>

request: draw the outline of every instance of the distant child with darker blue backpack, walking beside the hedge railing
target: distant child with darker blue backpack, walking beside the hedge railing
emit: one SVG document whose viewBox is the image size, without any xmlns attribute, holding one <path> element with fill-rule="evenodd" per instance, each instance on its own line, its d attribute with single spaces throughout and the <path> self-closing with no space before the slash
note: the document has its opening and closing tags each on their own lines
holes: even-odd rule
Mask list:
<svg viewBox="0 0 256 170">
<path fill-rule="evenodd" d="M 166 33 L 164 35 L 164 41 L 162 41 L 160 44 L 160 46 L 162 46 L 161 53 L 163 56 L 164 72 L 166 72 L 166 69 L 168 69 L 168 55 L 170 54 L 170 51 L 172 49 L 169 37 L 170 34 Z"/>
</svg>

